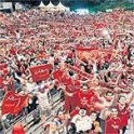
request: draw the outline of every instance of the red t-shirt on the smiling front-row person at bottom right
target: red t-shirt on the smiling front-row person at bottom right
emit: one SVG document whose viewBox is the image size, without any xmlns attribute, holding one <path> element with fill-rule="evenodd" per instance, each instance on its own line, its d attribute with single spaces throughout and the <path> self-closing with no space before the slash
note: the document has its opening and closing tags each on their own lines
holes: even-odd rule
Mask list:
<svg viewBox="0 0 134 134">
<path fill-rule="evenodd" d="M 119 117 L 108 117 L 105 121 L 105 134 L 119 134 L 121 119 Z M 113 125 L 118 126 L 115 129 Z"/>
</svg>

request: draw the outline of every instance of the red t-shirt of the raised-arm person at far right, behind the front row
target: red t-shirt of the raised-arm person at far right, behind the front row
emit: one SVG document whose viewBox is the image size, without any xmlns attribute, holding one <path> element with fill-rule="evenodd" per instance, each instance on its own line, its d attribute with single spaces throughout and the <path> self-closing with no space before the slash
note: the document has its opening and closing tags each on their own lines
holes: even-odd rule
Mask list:
<svg viewBox="0 0 134 134">
<path fill-rule="evenodd" d="M 129 105 L 125 104 L 125 107 L 123 109 L 120 109 L 119 104 L 117 105 L 118 109 L 118 117 L 121 119 L 121 128 L 128 125 L 128 120 L 129 120 Z"/>
</svg>

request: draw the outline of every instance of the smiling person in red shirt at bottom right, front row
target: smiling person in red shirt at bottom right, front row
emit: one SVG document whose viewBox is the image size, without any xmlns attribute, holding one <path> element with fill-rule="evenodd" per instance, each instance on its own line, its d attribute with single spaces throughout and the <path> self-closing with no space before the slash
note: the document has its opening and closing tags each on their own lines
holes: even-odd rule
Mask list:
<svg viewBox="0 0 134 134">
<path fill-rule="evenodd" d="M 104 134 L 119 134 L 121 125 L 121 119 L 118 117 L 117 108 L 112 107 L 110 116 L 105 120 L 105 133 Z"/>
</svg>

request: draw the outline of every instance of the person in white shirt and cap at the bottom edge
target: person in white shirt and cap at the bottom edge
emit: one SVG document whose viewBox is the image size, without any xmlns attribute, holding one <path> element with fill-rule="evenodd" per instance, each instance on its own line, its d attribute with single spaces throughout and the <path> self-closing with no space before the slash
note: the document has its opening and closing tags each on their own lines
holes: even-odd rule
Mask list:
<svg viewBox="0 0 134 134">
<path fill-rule="evenodd" d="M 80 108 L 79 113 L 76 115 L 71 120 L 72 130 L 76 130 L 77 134 L 88 132 L 92 128 L 92 119 L 86 115 L 84 108 Z"/>
</svg>

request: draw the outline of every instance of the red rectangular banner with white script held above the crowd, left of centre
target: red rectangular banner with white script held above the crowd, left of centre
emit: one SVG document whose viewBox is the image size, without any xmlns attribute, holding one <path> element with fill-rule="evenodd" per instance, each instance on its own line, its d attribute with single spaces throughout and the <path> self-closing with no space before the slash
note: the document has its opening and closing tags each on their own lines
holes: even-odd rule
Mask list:
<svg viewBox="0 0 134 134">
<path fill-rule="evenodd" d="M 34 81 L 46 80 L 50 77 L 50 71 L 53 69 L 51 64 L 30 67 L 30 72 Z"/>
</svg>

